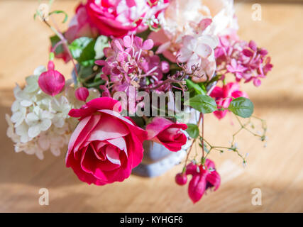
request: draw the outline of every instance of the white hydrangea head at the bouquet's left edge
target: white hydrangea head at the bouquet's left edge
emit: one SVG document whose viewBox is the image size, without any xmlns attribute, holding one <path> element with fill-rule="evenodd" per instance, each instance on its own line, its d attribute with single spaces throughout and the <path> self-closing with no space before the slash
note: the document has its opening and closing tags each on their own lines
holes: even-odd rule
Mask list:
<svg viewBox="0 0 303 227">
<path fill-rule="evenodd" d="M 13 89 L 16 101 L 11 106 L 12 116 L 6 114 L 9 124 L 6 134 L 15 143 L 15 151 L 36 155 L 40 160 L 47 150 L 55 156 L 60 155 L 60 150 L 67 146 L 77 126 L 77 119 L 70 118 L 68 113 L 70 109 L 84 104 L 76 99 L 72 80 L 67 80 L 65 89 L 56 96 L 42 92 L 38 86 L 38 77 L 45 71 L 45 67 L 37 67 L 32 76 L 26 77 L 23 89 L 16 84 Z M 87 100 L 99 96 L 97 89 L 89 89 Z"/>
</svg>

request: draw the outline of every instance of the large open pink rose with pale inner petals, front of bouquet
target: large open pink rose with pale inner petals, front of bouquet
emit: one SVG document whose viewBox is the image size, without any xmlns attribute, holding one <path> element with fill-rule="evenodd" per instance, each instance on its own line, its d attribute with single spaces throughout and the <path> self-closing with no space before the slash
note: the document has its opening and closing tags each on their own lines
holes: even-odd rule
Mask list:
<svg viewBox="0 0 303 227">
<path fill-rule="evenodd" d="M 79 124 L 70 138 L 65 162 L 83 182 L 122 182 L 141 162 L 146 132 L 120 111 L 120 102 L 109 97 L 70 111 Z"/>
</svg>

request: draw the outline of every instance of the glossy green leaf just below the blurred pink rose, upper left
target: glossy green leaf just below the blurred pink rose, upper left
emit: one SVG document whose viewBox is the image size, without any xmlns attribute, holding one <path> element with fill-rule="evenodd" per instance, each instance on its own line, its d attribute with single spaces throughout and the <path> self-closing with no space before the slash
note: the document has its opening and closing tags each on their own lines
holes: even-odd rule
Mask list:
<svg viewBox="0 0 303 227">
<path fill-rule="evenodd" d="M 74 40 L 70 45 L 70 52 L 80 64 L 84 66 L 94 65 L 94 44 L 96 40 L 88 37 L 81 37 Z"/>
</svg>

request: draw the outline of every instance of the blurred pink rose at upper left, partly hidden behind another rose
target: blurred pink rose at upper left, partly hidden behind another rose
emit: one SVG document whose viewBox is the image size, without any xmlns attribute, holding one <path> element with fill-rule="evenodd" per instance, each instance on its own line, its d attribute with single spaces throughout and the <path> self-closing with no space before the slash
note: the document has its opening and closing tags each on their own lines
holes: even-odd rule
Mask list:
<svg viewBox="0 0 303 227">
<path fill-rule="evenodd" d="M 96 38 L 99 35 L 98 28 L 94 26 L 87 15 L 86 7 L 79 4 L 76 9 L 76 15 L 70 21 L 70 25 L 65 32 L 65 38 L 69 43 L 80 37 Z"/>
</svg>

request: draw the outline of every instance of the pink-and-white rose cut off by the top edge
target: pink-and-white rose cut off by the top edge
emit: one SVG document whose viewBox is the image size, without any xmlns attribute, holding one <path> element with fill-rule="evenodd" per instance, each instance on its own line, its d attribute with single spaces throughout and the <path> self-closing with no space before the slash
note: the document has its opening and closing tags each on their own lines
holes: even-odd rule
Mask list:
<svg viewBox="0 0 303 227">
<path fill-rule="evenodd" d="M 148 0 L 88 0 L 87 13 L 102 35 L 123 37 L 131 32 L 144 31 L 145 22 L 157 18 L 168 1 Z"/>
</svg>

